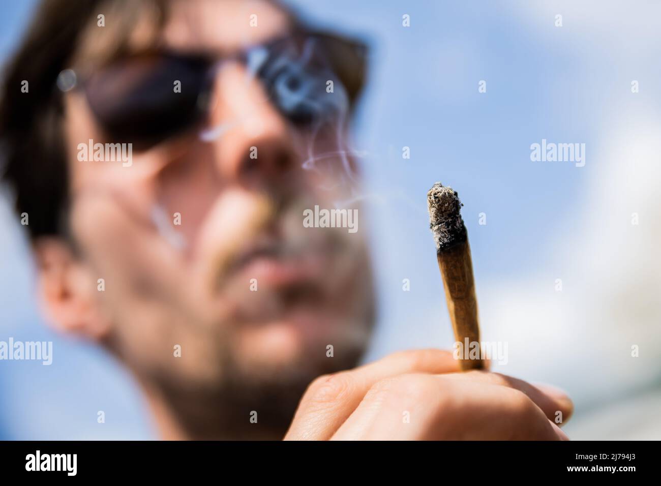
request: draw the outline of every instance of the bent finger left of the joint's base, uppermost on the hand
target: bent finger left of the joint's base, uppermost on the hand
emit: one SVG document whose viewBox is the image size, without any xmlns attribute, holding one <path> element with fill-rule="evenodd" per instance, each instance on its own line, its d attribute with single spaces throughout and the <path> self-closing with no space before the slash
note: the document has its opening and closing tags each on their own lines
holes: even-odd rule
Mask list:
<svg viewBox="0 0 661 486">
<path fill-rule="evenodd" d="M 390 354 L 354 370 L 321 376 L 308 387 L 293 418 L 286 440 L 327 440 L 358 407 L 380 380 L 405 373 L 459 371 L 448 351 L 410 350 Z"/>
</svg>

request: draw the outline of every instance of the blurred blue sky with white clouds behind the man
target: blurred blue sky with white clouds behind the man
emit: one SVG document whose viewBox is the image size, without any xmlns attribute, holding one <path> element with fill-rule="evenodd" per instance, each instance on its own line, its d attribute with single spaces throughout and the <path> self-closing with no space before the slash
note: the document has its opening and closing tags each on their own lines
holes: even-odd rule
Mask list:
<svg viewBox="0 0 661 486">
<path fill-rule="evenodd" d="M 31 3 L 1 0 L 0 57 L 16 42 Z M 654 253 L 660 191 L 653 182 L 661 180 L 658 5 L 288 3 L 311 22 L 361 34 L 372 45 L 354 124 L 354 146 L 368 154 L 364 192 L 379 263 L 381 319 L 368 359 L 453 341 L 425 201 L 428 188 L 442 181 L 465 204 L 484 338 L 510 342 L 503 372 L 559 384 L 586 407 L 658 384 L 656 356 L 625 359 L 631 343 L 661 341 L 661 311 L 648 290 L 661 283 Z M 404 14 L 410 27 L 402 26 Z M 486 93 L 478 91 L 481 80 Z M 632 80 L 639 93 L 631 93 Z M 543 138 L 585 143 L 586 165 L 532 162 L 530 145 Z M 404 146 L 410 159 L 401 157 Z M 641 227 L 627 223 L 633 212 Z M 486 225 L 479 225 L 480 213 Z M 38 322 L 27 259 L 7 259 L 21 242 L 4 207 L 0 225 L 10 228 L 0 235 L 0 339 L 53 340 L 61 354 L 58 366 L 11 363 L 0 374 L 0 434 L 151 436 L 120 368 Z M 404 278 L 410 292 L 402 290 Z M 641 278 L 644 290 L 629 294 Z M 620 313 L 627 305 L 629 313 Z M 626 320 L 631 311 L 634 323 Z M 613 371 L 609 383 L 589 372 L 595 359 Z M 112 427 L 80 418 L 95 417 L 98 403 L 116 407 L 106 413 Z"/>
</svg>

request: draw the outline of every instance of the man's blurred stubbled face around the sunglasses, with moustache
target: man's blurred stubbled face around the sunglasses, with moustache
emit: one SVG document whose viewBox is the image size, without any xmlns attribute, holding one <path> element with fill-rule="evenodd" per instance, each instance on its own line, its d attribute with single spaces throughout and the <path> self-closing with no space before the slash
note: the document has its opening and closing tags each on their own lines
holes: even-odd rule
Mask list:
<svg viewBox="0 0 661 486">
<path fill-rule="evenodd" d="M 106 13 L 106 27 L 87 32 L 77 71 L 113 42 L 117 20 Z M 134 147 L 130 166 L 79 160 L 89 140 L 130 140 L 108 136 L 83 91 L 65 94 L 70 227 L 78 285 L 91 290 L 81 320 L 162 387 L 298 389 L 352 366 L 364 349 L 373 300 L 363 220 L 355 233 L 303 225 L 315 205 L 352 208 L 342 204 L 354 196 L 342 114 L 293 124 L 249 66 L 231 60 L 290 28 L 266 1 L 196 0 L 172 2 L 157 31 L 134 29 L 136 51 L 156 40 L 164 51 L 226 61 L 211 73 L 203 122 Z M 173 92 L 176 81 L 163 80 Z"/>
</svg>

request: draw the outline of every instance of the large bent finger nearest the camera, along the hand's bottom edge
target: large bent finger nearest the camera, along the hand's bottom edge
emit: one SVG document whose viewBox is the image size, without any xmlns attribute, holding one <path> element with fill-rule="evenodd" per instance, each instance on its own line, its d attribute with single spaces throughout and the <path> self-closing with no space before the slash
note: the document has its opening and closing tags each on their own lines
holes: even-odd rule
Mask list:
<svg viewBox="0 0 661 486">
<path fill-rule="evenodd" d="M 368 391 L 333 440 L 560 440 L 525 393 L 444 375 L 403 375 Z"/>
</svg>

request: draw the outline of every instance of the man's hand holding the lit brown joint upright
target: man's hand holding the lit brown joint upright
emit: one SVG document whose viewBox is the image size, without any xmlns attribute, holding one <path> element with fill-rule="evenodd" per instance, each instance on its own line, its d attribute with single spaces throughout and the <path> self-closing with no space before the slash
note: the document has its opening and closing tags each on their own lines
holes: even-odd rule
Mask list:
<svg viewBox="0 0 661 486">
<path fill-rule="evenodd" d="M 317 378 L 285 440 L 568 440 L 553 421 L 572 409 L 551 387 L 412 350 Z"/>
</svg>

